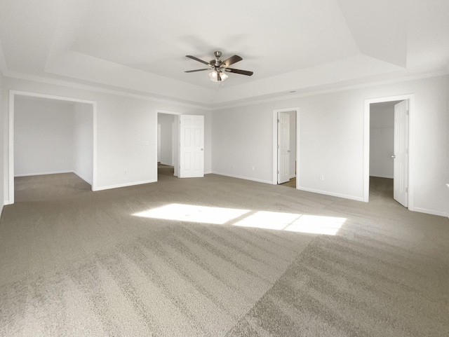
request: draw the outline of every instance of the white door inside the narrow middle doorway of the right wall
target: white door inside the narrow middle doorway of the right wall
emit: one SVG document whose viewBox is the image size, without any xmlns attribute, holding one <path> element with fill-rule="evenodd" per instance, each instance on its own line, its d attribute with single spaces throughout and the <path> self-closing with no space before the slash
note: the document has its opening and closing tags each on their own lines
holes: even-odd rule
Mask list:
<svg viewBox="0 0 449 337">
<path fill-rule="evenodd" d="M 290 180 L 290 115 L 278 114 L 278 184 Z"/>
</svg>

